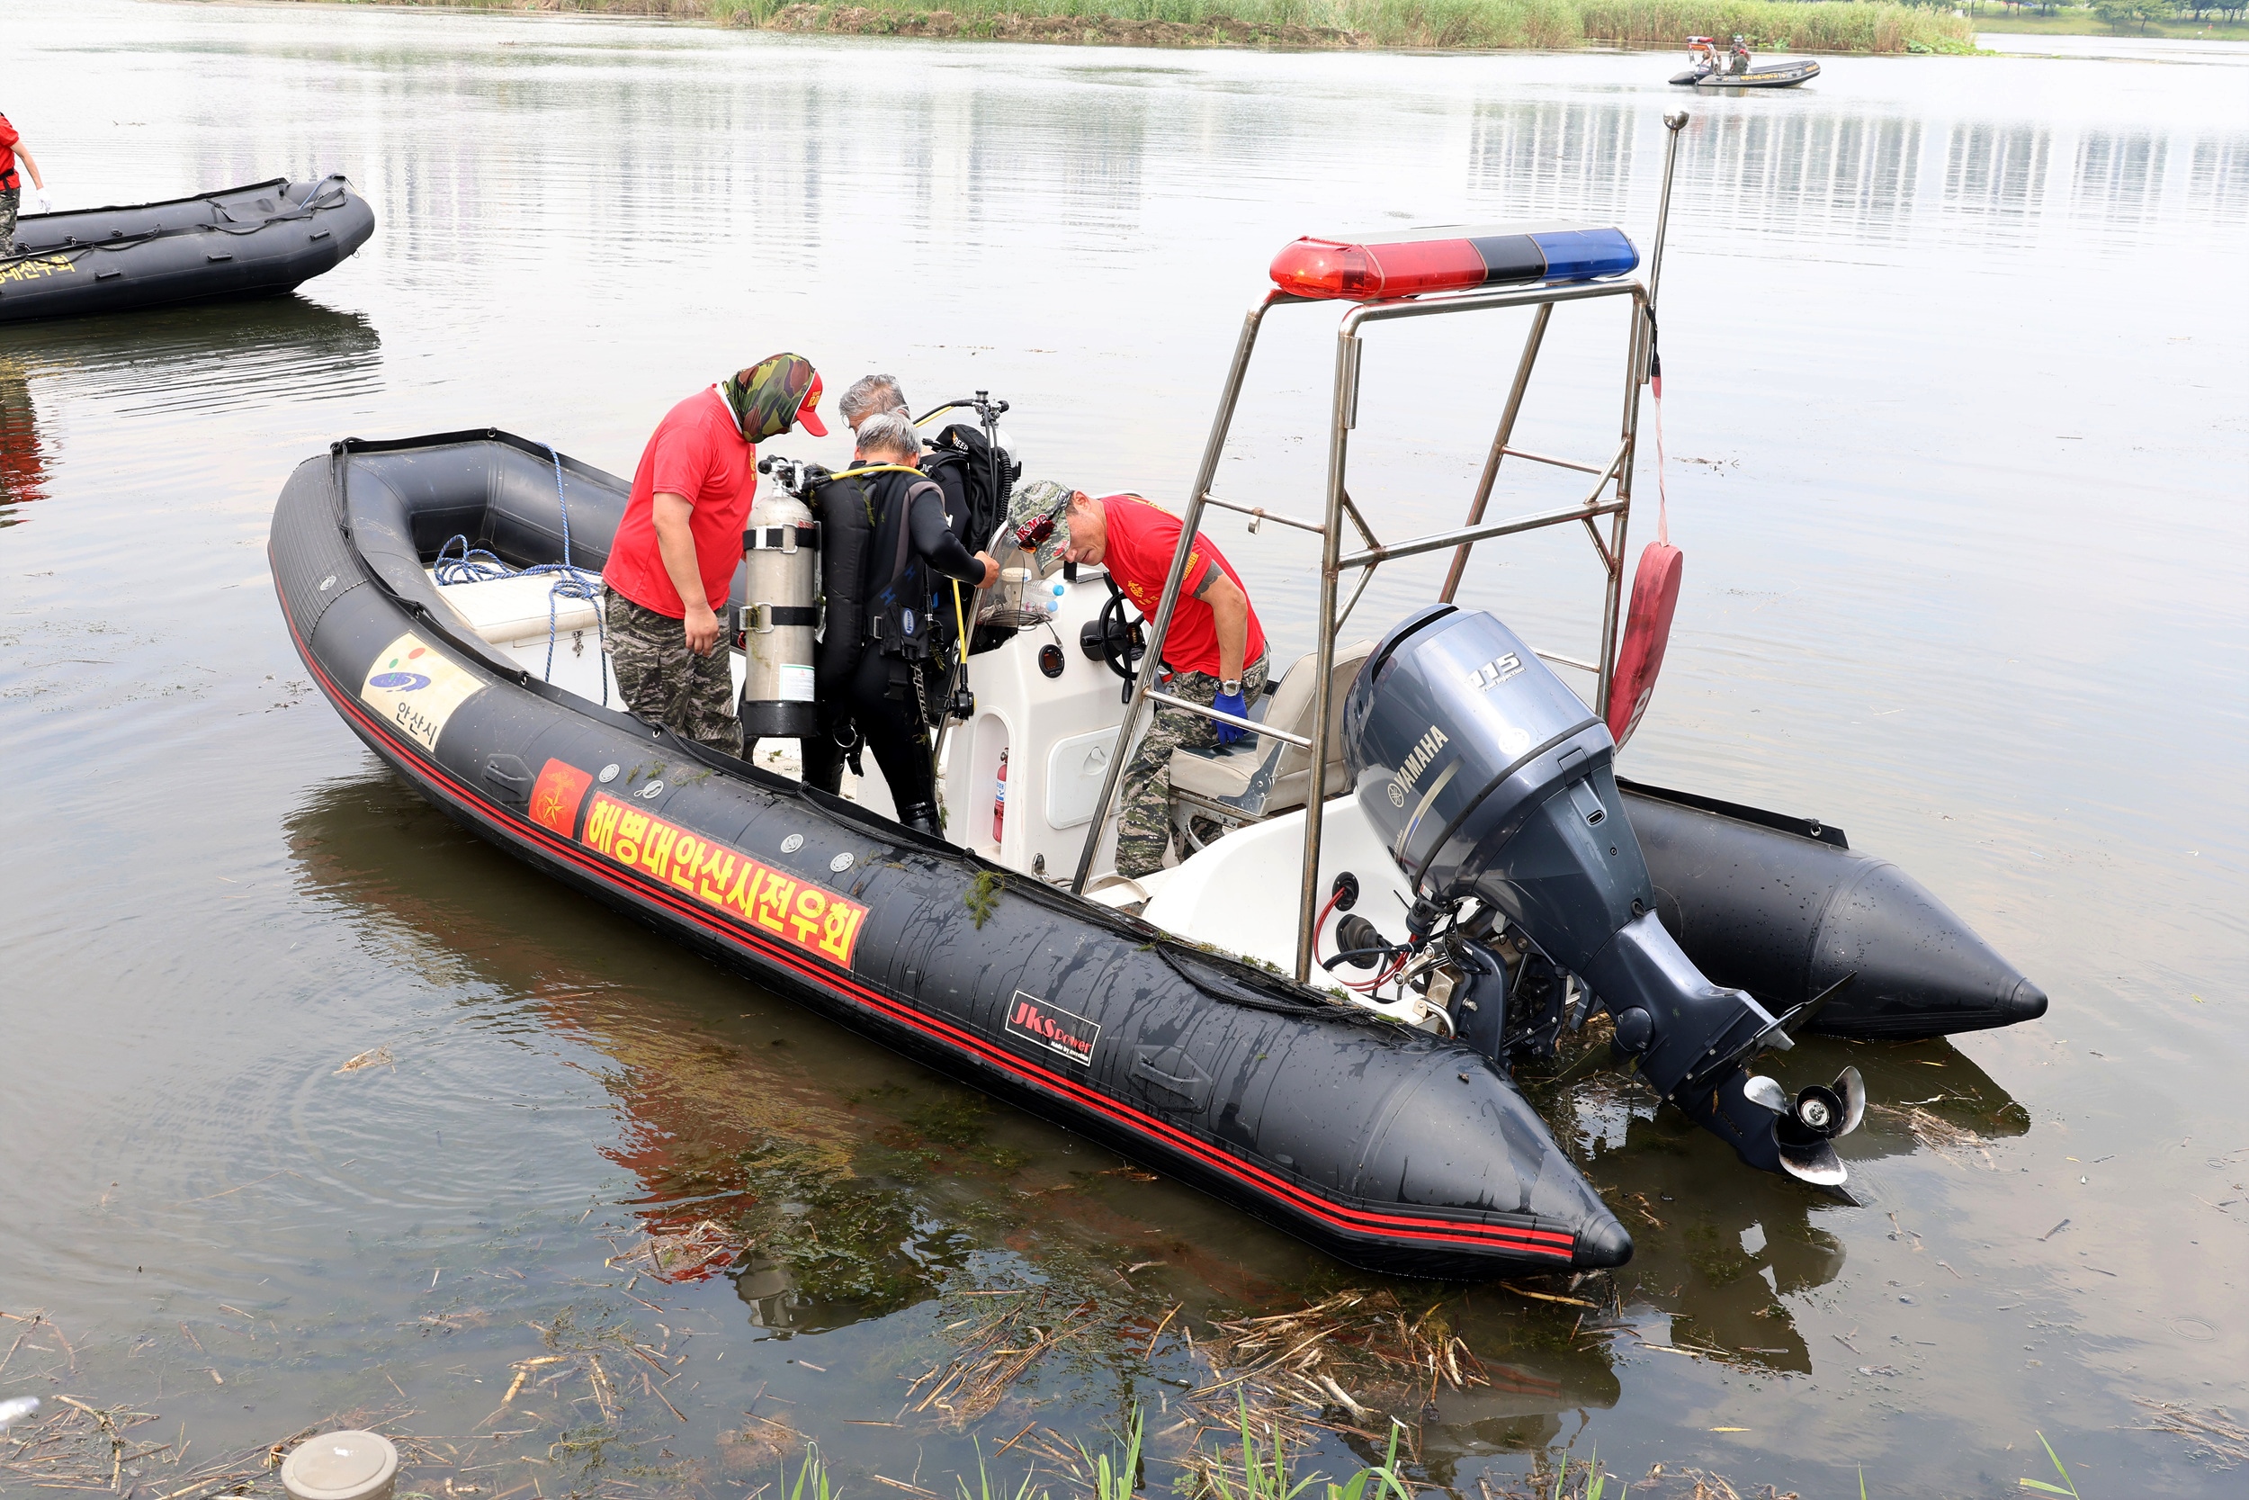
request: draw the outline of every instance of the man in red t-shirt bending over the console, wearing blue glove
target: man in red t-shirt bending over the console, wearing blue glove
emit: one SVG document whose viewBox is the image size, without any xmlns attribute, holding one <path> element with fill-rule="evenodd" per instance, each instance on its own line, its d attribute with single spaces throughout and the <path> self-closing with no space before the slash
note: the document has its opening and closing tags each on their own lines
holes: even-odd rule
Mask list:
<svg viewBox="0 0 2249 1500">
<path fill-rule="evenodd" d="M 1062 555 L 1109 569 L 1124 598 L 1154 618 L 1178 549 L 1178 517 L 1138 495 L 1077 493 L 1066 519 L 1071 540 Z M 1235 564 L 1201 533 L 1181 576 L 1163 663 L 1172 668 L 1165 693 L 1219 713 L 1248 717 L 1248 699 L 1264 693 L 1264 627 Z M 1156 708 L 1118 789 L 1118 875 L 1138 879 L 1163 868 L 1172 846 L 1172 751 L 1232 744 L 1244 733 L 1183 708 Z"/>
</svg>

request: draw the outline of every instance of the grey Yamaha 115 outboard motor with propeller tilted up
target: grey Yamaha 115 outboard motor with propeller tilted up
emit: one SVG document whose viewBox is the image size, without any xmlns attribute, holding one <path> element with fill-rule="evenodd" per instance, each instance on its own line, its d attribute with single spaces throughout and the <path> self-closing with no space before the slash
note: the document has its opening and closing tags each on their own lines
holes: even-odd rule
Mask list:
<svg viewBox="0 0 2249 1500">
<path fill-rule="evenodd" d="M 1352 684 L 1343 742 L 1358 805 L 1419 897 L 1417 936 L 1469 900 L 1496 911 L 1608 1007 L 1640 1075 L 1743 1160 L 1844 1181 L 1828 1140 L 1864 1113 L 1858 1070 L 1790 1100 L 1743 1068 L 1790 1046 L 1795 1012 L 1709 983 L 1655 920 L 1608 726 L 1507 625 L 1453 605 L 1408 616 Z"/>
</svg>

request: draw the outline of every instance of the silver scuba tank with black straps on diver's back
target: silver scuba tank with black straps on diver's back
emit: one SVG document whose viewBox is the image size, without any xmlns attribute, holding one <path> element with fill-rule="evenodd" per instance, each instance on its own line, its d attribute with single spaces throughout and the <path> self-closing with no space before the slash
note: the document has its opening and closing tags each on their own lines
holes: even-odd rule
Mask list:
<svg viewBox="0 0 2249 1500">
<path fill-rule="evenodd" d="M 803 740 L 812 733 L 816 695 L 812 632 L 819 625 L 821 526 L 794 490 L 805 466 L 765 459 L 760 472 L 780 470 L 749 510 L 742 553 L 749 564 L 749 603 L 742 605 L 742 733 Z"/>
</svg>

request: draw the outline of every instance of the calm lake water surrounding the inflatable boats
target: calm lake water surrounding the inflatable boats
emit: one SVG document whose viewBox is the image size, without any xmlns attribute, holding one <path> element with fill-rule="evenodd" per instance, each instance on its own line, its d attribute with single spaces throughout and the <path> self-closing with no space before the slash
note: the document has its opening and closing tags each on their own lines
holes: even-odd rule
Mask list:
<svg viewBox="0 0 2249 1500">
<path fill-rule="evenodd" d="M 1646 243 L 1673 58 L 126 0 L 16 7 L 4 52 L 63 207 L 342 171 L 380 229 L 292 299 L 0 331 L 0 1311 L 52 1318 L 0 1320 L 0 1399 L 137 1401 L 198 1453 L 387 1419 L 452 1455 L 432 1496 L 744 1496 L 805 1437 L 859 1500 L 951 1496 L 976 1444 L 1100 1442 L 1133 1399 L 1176 1460 L 1208 1379 L 1183 1331 L 1370 1286 L 459 832 L 310 690 L 268 517 L 346 434 L 497 425 L 630 472 L 670 403 L 774 349 L 830 389 L 992 389 L 1028 477 L 1178 501 L 1282 243 L 1552 216 Z M 1999 1496 L 2058 1478 L 2044 1433 L 2087 1496 L 2242 1482 L 2146 1401 L 2240 1403 L 2249 1349 L 2249 49 L 2103 52 L 1685 101 L 1687 596 L 1624 758 L 1840 823 L 2053 1010 L 1788 1061 L 1923 1111 L 1846 1142 L 1862 1208 L 1583 1086 L 1561 1109 L 1640 1244 L 1617 1316 L 1392 1286 L 1491 1365 L 1399 1408 L 1419 1480 L 1509 1493 L 1597 1448 L 1664 1466 L 1635 1496 L 1687 1469 Z M 1275 315 L 1221 493 L 1309 504 L 1331 317 Z M 1379 524 L 1457 513 L 1518 331 L 1376 335 Z M 1556 317 L 1520 443 L 1599 448 L 1619 337 Z M 1212 531 L 1309 645 L 1307 544 Z M 1487 551 L 1478 603 L 1590 650 L 1581 540 Z M 337 1073 L 371 1048 L 391 1066 Z M 758 1235 L 742 1266 L 607 1264 L 706 1217 Z M 900 1415 L 996 1307 L 972 1293 L 1023 1286 L 1071 1338 L 974 1421 Z M 607 1349 L 609 1390 L 558 1361 L 502 1401 L 549 1347 Z M 1311 1439 L 1329 1473 L 1372 1451 Z M 1077 1493 L 1039 1444 L 994 1473 Z"/>
</svg>

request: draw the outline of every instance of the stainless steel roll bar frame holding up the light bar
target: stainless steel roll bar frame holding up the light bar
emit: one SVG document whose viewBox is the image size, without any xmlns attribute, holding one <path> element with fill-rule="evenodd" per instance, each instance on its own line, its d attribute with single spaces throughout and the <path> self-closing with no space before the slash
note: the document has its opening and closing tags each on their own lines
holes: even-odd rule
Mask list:
<svg viewBox="0 0 2249 1500">
<path fill-rule="evenodd" d="M 1118 780 L 1124 769 L 1124 751 L 1131 747 L 1133 738 L 1140 733 L 1142 717 L 1149 713 L 1151 699 L 1167 708 L 1178 708 L 1185 713 L 1201 715 L 1205 720 L 1217 720 L 1221 724 L 1235 724 L 1239 729 L 1253 729 L 1259 735 L 1271 735 L 1286 740 L 1289 744 L 1300 744 L 1311 751 L 1311 796 L 1304 798 L 1304 864 L 1300 875 L 1298 893 L 1298 929 L 1295 929 L 1295 981 L 1309 983 L 1311 960 L 1313 960 L 1313 913 L 1320 900 L 1320 823 L 1325 814 L 1325 792 L 1327 780 L 1320 767 L 1327 765 L 1327 740 L 1329 740 L 1329 717 L 1334 697 L 1334 670 L 1336 670 L 1336 634 L 1343 621 L 1349 618 L 1352 609 L 1358 605 L 1358 596 L 1365 594 L 1367 582 L 1374 578 L 1374 569 L 1383 562 L 1399 558 L 1417 558 L 1421 553 L 1453 549 L 1453 564 L 1446 569 L 1444 589 L 1437 594 L 1439 600 L 1451 603 L 1453 594 L 1460 589 L 1460 580 L 1469 569 L 1469 553 L 1478 542 L 1493 537 L 1518 535 L 1525 531 L 1543 531 L 1547 526 L 1568 526 L 1570 522 L 1581 522 L 1586 535 L 1592 540 L 1595 553 L 1601 558 L 1601 569 L 1606 573 L 1604 598 L 1601 598 L 1601 657 L 1599 661 L 1574 661 L 1570 657 L 1556 657 L 1550 652 L 1538 652 L 1547 661 L 1559 661 L 1579 670 L 1595 675 L 1595 702 L 1592 711 L 1608 715 L 1608 690 L 1617 666 L 1617 627 L 1624 603 L 1624 537 L 1633 515 L 1633 457 L 1637 452 L 1640 439 L 1640 387 L 1649 378 L 1649 362 L 1655 349 L 1655 288 L 1662 281 L 1662 259 L 1664 259 L 1664 232 L 1671 220 L 1671 171 L 1678 162 L 1678 139 L 1680 128 L 1687 124 L 1685 112 L 1664 115 L 1667 148 L 1664 148 L 1664 180 L 1662 196 L 1655 209 L 1655 250 L 1649 256 L 1649 283 L 1637 281 L 1579 281 L 1565 286 L 1527 286 L 1511 288 L 1502 292 L 1439 292 L 1428 297 L 1408 297 L 1397 301 L 1356 301 L 1343 315 L 1343 326 L 1336 331 L 1336 378 L 1334 396 L 1329 403 L 1329 430 L 1327 430 L 1327 513 L 1320 522 L 1311 522 L 1295 515 L 1284 515 L 1280 510 L 1268 510 L 1264 506 L 1244 506 L 1228 499 L 1219 499 L 1210 493 L 1210 481 L 1217 477 L 1219 459 L 1226 454 L 1226 439 L 1232 432 L 1235 407 L 1241 400 L 1241 382 L 1248 376 L 1250 355 L 1257 349 L 1257 333 L 1264 326 L 1264 315 L 1277 306 L 1309 301 L 1313 306 L 1329 306 L 1327 299 L 1318 297 L 1295 297 L 1282 290 L 1268 290 L 1257 306 L 1248 310 L 1241 319 L 1241 337 L 1235 340 L 1235 358 L 1226 371 L 1226 385 L 1219 391 L 1219 412 L 1210 423 L 1210 439 L 1203 443 L 1203 461 L 1194 475 L 1194 493 L 1187 499 L 1187 510 L 1178 526 L 1178 546 L 1172 551 L 1172 567 L 1163 580 L 1163 598 L 1156 603 L 1156 616 L 1147 632 L 1147 654 L 1140 657 L 1140 672 L 1133 677 L 1131 697 L 1124 708 L 1124 722 L 1118 726 L 1118 744 L 1109 756 L 1109 771 L 1102 776 L 1102 796 L 1093 807 L 1093 823 L 1086 830 L 1084 850 L 1077 855 L 1077 875 L 1071 882 L 1073 893 L 1084 893 L 1086 879 L 1093 875 L 1093 857 L 1100 848 L 1102 832 L 1109 825 L 1109 812 L 1116 805 Z M 1619 418 L 1617 448 L 1608 463 L 1592 466 L 1579 463 L 1574 459 L 1556 459 L 1550 454 L 1534 454 L 1514 448 L 1516 416 L 1523 412 L 1523 396 L 1529 389 L 1532 371 L 1538 364 L 1538 351 L 1545 344 L 1547 324 L 1554 319 L 1554 308 L 1568 301 L 1599 301 L 1608 297 L 1628 297 L 1633 304 L 1631 333 L 1626 335 L 1624 355 L 1624 414 Z M 1500 409 L 1500 425 L 1491 436 L 1491 450 L 1484 457 L 1484 472 L 1478 477 L 1475 495 L 1469 501 L 1469 517 L 1462 526 L 1453 531 L 1437 531 L 1424 537 L 1412 537 L 1408 542 L 1383 544 L 1374 537 L 1374 528 L 1367 526 L 1365 515 L 1352 504 L 1347 488 L 1347 459 L 1349 459 L 1349 434 L 1358 425 L 1358 364 L 1363 353 L 1361 328 L 1367 324 L 1397 322 L 1406 317 L 1437 317 L 1444 313 L 1487 313 L 1498 308 L 1536 308 L 1532 315 L 1529 333 L 1523 340 L 1523 353 L 1516 360 L 1516 376 L 1507 389 L 1507 405 Z M 1518 515 L 1505 522 L 1484 522 L 1484 506 L 1491 501 L 1491 488 L 1500 477 L 1502 459 L 1523 459 L 1525 463 L 1545 463 L 1552 468 L 1577 470 L 1581 475 L 1595 475 L 1592 488 L 1574 506 L 1563 506 L 1556 510 L 1538 510 L 1534 515 Z M 1601 499 L 1610 493 L 1610 499 Z M 1255 533 L 1264 522 L 1280 522 L 1298 531 L 1311 531 L 1320 537 L 1320 607 L 1318 607 L 1318 645 L 1316 645 L 1316 670 L 1313 681 L 1313 704 L 1311 704 L 1311 738 L 1284 733 L 1277 729 L 1264 729 L 1262 724 L 1244 722 L 1230 713 L 1219 713 L 1217 708 L 1205 708 L 1201 704 L 1190 704 L 1169 693 L 1156 690 L 1156 677 L 1163 661 L 1163 643 L 1172 632 L 1172 616 L 1178 609 L 1178 594 L 1187 573 L 1187 555 L 1194 551 L 1194 537 L 1203 524 L 1203 510 L 1217 506 L 1221 510 L 1232 510 L 1237 515 L 1250 517 L 1250 531 Z M 1608 517 L 1608 537 L 1601 537 L 1601 528 L 1595 526 L 1597 519 Z M 1358 533 L 1361 549 L 1343 551 L 1343 522 L 1349 519 L 1352 531 Z M 1352 603 L 1336 614 L 1336 594 L 1345 569 L 1358 569 L 1358 587 L 1352 591 Z"/>
</svg>

